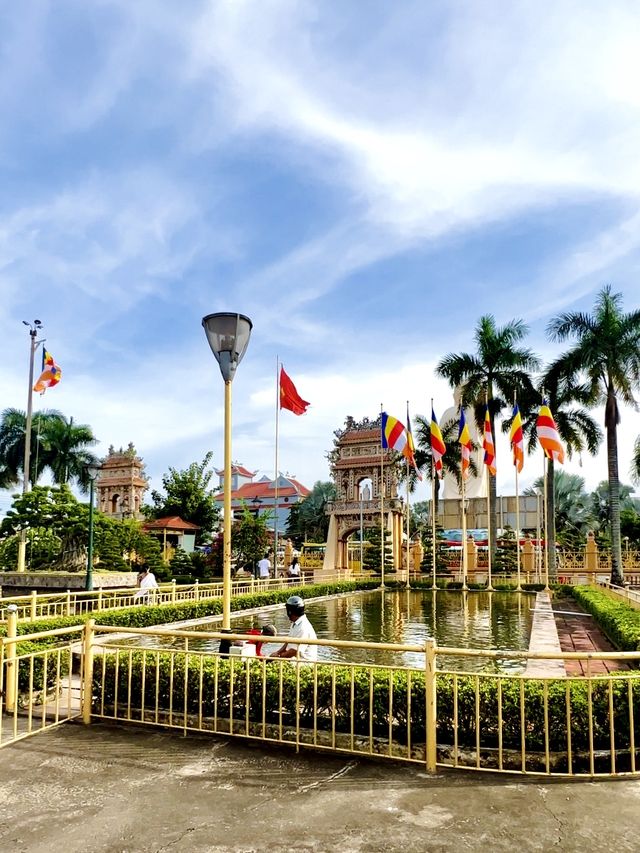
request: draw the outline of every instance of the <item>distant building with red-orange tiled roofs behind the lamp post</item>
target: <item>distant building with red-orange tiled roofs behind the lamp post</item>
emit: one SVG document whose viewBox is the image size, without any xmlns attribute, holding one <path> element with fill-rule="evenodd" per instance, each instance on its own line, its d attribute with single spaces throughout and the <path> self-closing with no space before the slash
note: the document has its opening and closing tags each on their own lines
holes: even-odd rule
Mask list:
<svg viewBox="0 0 640 853">
<path fill-rule="evenodd" d="M 217 470 L 218 487 L 224 488 L 224 469 Z M 284 532 L 291 507 L 311 494 L 310 489 L 299 483 L 293 477 L 278 477 L 278 501 L 276 506 L 276 481 L 269 477 L 261 477 L 253 482 L 256 472 L 251 472 L 244 466 L 234 463 L 231 467 L 231 510 L 238 513 L 243 506 L 256 516 L 269 515 L 268 526 L 275 528 L 276 513 L 278 531 Z M 214 499 L 222 507 L 224 495 L 222 491 L 214 495 Z"/>
</svg>

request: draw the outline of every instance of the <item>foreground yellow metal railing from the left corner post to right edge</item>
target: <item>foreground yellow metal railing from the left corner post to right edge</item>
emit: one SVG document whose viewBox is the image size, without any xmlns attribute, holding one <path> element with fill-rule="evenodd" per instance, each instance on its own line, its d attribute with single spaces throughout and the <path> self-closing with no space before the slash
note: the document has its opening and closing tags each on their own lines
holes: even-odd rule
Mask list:
<svg viewBox="0 0 640 853">
<path fill-rule="evenodd" d="M 217 632 L 128 629 L 172 647 L 108 643 L 96 627 L 92 713 L 135 722 L 437 767 L 550 776 L 637 775 L 640 672 L 593 674 L 640 653 L 533 653 L 425 644 L 304 640 L 344 649 L 424 653 L 420 668 L 220 656 L 193 648 Z M 242 634 L 226 639 L 247 639 Z M 274 643 L 295 642 L 287 637 Z M 461 659 L 439 669 L 438 656 Z M 586 660 L 588 675 L 465 671 L 465 660 Z"/>
</svg>

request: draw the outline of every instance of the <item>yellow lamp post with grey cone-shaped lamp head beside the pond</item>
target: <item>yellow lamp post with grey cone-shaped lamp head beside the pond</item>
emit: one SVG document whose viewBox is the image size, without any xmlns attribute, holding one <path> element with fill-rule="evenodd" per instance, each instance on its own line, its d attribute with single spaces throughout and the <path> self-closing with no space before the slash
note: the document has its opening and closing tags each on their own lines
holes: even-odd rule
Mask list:
<svg viewBox="0 0 640 853">
<path fill-rule="evenodd" d="M 242 361 L 253 323 L 244 314 L 207 314 L 207 341 L 224 380 L 224 501 L 222 532 L 222 627 L 231 626 L 231 383 Z"/>
</svg>

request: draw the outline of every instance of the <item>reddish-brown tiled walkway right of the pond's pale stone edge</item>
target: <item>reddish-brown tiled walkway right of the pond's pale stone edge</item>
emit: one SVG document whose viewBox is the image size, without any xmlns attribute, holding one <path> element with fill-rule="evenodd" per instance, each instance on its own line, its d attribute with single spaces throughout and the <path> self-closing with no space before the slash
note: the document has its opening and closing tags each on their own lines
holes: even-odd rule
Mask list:
<svg viewBox="0 0 640 853">
<path fill-rule="evenodd" d="M 595 620 L 586 614 L 572 598 L 558 598 L 553 601 L 558 638 L 563 652 L 610 652 L 615 647 L 602 633 Z M 572 616 L 568 611 L 577 615 Z M 586 675 L 587 661 L 565 661 L 567 675 Z M 629 667 L 623 661 L 590 661 L 591 675 L 606 675 L 609 672 L 626 670 Z"/>
</svg>

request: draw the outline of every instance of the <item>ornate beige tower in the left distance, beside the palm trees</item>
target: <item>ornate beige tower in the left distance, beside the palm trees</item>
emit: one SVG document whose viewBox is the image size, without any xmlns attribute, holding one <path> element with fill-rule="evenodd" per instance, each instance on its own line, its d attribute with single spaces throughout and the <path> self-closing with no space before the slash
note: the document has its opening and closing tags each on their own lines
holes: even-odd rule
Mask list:
<svg viewBox="0 0 640 853">
<path fill-rule="evenodd" d="M 141 508 L 149 483 L 144 462 L 130 442 L 126 450 L 113 445 L 100 466 L 96 479 L 98 509 L 111 518 L 144 518 Z"/>
</svg>

